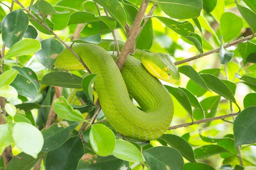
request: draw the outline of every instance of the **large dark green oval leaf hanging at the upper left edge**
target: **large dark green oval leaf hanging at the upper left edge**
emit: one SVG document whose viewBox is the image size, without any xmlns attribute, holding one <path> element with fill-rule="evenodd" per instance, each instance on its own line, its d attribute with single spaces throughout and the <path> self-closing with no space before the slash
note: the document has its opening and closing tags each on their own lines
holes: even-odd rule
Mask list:
<svg viewBox="0 0 256 170">
<path fill-rule="evenodd" d="M 11 48 L 13 44 L 20 41 L 25 34 L 28 25 L 29 18 L 22 9 L 17 9 L 8 13 L 2 20 L 2 41 L 5 46 Z"/>
</svg>

